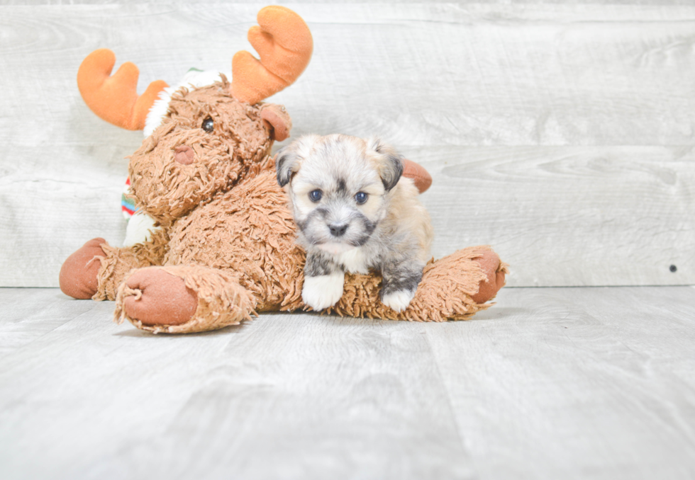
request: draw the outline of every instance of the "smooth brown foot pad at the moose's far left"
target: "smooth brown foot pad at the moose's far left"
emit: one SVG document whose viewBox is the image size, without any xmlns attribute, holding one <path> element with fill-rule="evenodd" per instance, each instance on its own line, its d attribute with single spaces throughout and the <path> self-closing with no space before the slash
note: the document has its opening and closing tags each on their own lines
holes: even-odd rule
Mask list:
<svg viewBox="0 0 695 480">
<path fill-rule="evenodd" d="M 106 256 L 102 244 L 106 244 L 106 240 L 91 239 L 62 264 L 58 282 L 65 295 L 86 300 L 96 293 L 99 286 L 96 276 L 101 266 L 99 257 Z"/>
</svg>

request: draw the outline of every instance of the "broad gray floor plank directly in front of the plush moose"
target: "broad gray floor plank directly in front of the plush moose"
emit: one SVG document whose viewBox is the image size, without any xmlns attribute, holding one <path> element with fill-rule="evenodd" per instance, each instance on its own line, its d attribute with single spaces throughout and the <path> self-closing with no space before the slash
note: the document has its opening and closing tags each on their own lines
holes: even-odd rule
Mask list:
<svg viewBox="0 0 695 480">
<path fill-rule="evenodd" d="M 473 476 L 423 325 L 299 314 L 152 336 L 110 320 L 94 309 L 6 355 L 3 478 Z"/>
</svg>

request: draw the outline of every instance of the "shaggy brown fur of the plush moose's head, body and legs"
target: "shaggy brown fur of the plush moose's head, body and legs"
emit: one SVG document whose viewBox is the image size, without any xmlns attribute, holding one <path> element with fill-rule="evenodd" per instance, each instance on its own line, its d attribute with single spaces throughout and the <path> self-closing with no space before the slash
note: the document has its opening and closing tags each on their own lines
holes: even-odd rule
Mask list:
<svg viewBox="0 0 695 480">
<path fill-rule="evenodd" d="M 239 324 L 257 312 L 306 309 L 304 251 L 295 243 L 294 220 L 269 156 L 272 126 L 260 115 L 275 107 L 236 101 L 226 79 L 174 97 L 169 118 L 129 166 L 138 207 L 162 229 L 145 244 L 101 245 L 93 298 L 116 299 L 117 321 L 183 333 Z M 201 128 L 207 118 L 213 119 L 212 133 Z M 177 161 L 181 147 L 194 152 L 190 164 Z M 84 257 L 77 253 L 75 258 Z M 66 275 L 85 275 L 88 285 L 84 262 L 70 263 L 73 256 Z M 467 248 L 426 266 L 404 312 L 379 301 L 375 273 L 346 275 L 345 294 L 329 310 L 381 319 L 463 319 L 489 306 L 484 302 L 504 285 L 504 273 L 506 265 L 489 248 Z M 482 283 L 489 293 L 474 300 Z"/>
</svg>

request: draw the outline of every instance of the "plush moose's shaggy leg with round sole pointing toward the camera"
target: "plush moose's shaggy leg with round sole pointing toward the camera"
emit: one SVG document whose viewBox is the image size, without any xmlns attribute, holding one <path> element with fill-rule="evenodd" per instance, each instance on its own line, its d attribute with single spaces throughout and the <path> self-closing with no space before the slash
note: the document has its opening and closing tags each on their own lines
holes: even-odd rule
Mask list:
<svg viewBox="0 0 695 480">
<path fill-rule="evenodd" d="M 134 270 L 118 287 L 114 320 L 154 333 L 237 325 L 255 314 L 255 296 L 231 272 L 201 265 Z"/>
</svg>

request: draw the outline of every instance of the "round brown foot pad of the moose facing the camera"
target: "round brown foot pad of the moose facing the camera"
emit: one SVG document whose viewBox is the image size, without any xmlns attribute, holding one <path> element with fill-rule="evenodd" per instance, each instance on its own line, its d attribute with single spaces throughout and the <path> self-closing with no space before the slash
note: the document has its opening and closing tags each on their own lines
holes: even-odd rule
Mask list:
<svg viewBox="0 0 695 480">
<path fill-rule="evenodd" d="M 135 295 L 123 299 L 128 318 L 144 325 L 182 325 L 198 308 L 198 295 L 183 278 L 158 267 L 142 268 L 126 279 Z"/>
</svg>

